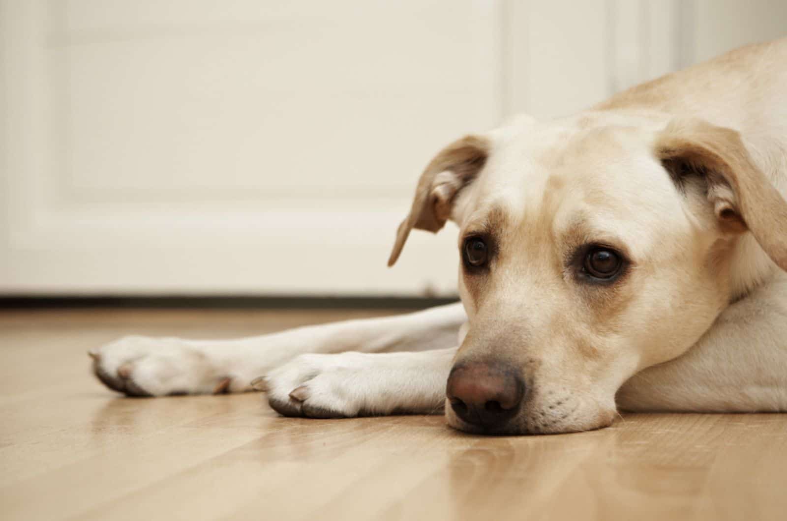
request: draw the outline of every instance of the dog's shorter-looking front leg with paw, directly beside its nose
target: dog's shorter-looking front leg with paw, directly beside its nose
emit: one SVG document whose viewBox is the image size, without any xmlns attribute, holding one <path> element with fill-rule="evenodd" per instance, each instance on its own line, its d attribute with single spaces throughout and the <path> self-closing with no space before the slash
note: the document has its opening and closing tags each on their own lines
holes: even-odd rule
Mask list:
<svg viewBox="0 0 787 521">
<path fill-rule="evenodd" d="M 442 412 L 456 349 L 301 355 L 268 374 L 268 403 L 307 418 Z"/>
</svg>

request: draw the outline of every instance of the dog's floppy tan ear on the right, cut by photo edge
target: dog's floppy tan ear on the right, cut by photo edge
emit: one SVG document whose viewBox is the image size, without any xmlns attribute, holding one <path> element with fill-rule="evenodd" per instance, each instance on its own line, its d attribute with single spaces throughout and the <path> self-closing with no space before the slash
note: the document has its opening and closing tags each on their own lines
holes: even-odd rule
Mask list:
<svg viewBox="0 0 787 521">
<path fill-rule="evenodd" d="M 678 187 L 687 176 L 703 176 L 722 230 L 751 231 L 787 271 L 787 201 L 754 164 L 737 131 L 701 120 L 673 121 L 657 139 L 656 154 Z"/>
</svg>

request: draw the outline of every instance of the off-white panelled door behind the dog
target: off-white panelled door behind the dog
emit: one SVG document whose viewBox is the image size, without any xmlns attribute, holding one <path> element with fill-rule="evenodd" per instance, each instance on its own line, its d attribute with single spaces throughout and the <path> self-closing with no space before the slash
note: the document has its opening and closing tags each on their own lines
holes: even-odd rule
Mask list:
<svg viewBox="0 0 787 521">
<path fill-rule="evenodd" d="M 2 0 L 0 292 L 450 294 L 453 228 L 385 267 L 430 156 L 704 54 L 710 3 Z"/>
</svg>

